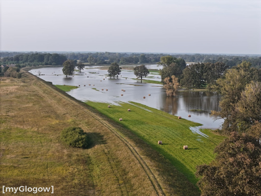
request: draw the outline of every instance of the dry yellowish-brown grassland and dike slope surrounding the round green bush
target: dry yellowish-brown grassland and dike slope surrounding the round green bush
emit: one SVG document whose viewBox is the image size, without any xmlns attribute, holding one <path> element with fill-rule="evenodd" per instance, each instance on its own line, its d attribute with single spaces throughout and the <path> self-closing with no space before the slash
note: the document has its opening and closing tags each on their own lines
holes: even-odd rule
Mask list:
<svg viewBox="0 0 261 196">
<path fill-rule="evenodd" d="M 21 79 L 1 77 L 0 81 L 0 192 L 3 186 L 54 186 L 54 195 L 200 194 L 126 125 L 26 72 L 28 69 L 22 69 Z M 60 133 L 68 126 L 80 126 L 87 132 L 87 149 L 61 144 Z"/>
</svg>

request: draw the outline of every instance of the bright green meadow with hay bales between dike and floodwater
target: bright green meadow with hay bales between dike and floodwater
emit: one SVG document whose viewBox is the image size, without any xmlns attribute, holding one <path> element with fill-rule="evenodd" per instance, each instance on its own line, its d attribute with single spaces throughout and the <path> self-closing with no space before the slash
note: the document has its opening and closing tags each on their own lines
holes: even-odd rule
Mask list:
<svg viewBox="0 0 261 196">
<path fill-rule="evenodd" d="M 213 149 L 224 137 L 210 130 L 201 130 L 209 138 L 192 133 L 190 126 L 200 124 L 147 107 L 139 103 L 120 103 L 108 108 L 108 103 L 86 102 L 115 122 L 128 128 L 153 149 L 161 153 L 181 171 L 193 184 L 197 183 L 194 172 L 200 164 L 208 164 L 214 159 Z M 131 109 L 128 112 L 127 109 Z M 119 121 L 122 118 L 122 121 Z M 163 145 L 158 145 L 161 140 Z M 187 145 L 188 150 L 183 146 Z"/>
</svg>

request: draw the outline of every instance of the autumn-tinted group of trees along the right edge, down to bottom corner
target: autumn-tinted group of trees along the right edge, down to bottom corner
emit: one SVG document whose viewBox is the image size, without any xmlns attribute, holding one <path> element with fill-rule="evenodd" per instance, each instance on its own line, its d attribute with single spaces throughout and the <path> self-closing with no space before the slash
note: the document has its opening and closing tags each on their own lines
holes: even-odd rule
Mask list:
<svg viewBox="0 0 261 196">
<path fill-rule="evenodd" d="M 212 116 L 224 119 L 228 137 L 209 165 L 197 166 L 201 195 L 261 195 L 261 81 L 250 66 L 242 62 L 216 81 L 223 96 Z"/>
</svg>

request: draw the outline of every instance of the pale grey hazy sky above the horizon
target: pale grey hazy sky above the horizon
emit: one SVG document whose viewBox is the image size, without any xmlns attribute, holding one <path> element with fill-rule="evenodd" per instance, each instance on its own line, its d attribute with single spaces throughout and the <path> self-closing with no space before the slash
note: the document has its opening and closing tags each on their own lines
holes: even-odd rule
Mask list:
<svg viewBox="0 0 261 196">
<path fill-rule="evenodd" d="M 261 54 L 261 0 L 0 0 L 0 50 Z"/>
</svg>

